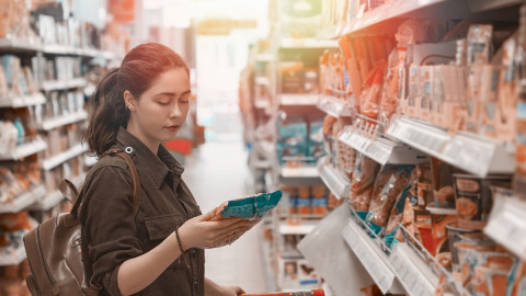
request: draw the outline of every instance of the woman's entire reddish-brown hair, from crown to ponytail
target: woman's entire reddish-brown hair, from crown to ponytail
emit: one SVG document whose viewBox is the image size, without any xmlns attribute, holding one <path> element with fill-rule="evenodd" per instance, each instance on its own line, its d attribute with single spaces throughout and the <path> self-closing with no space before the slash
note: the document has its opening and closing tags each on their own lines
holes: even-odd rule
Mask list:
<svg viewBox="0 0 526 296">
<path fill-rule="evenodd" d="M 184 59 L 164 45 L 147 43 L 132 49 L 121 68 L 111 70 L 90 98 L 90 124 L 83 141 L 91 151 L 100 157 L 115 145 L 121 126 L 127 127 L 129 110 L 124 102 L 125 91 L 139 100 L 162 72 L 180 68 L 190 76 Z"/>
</svg>

